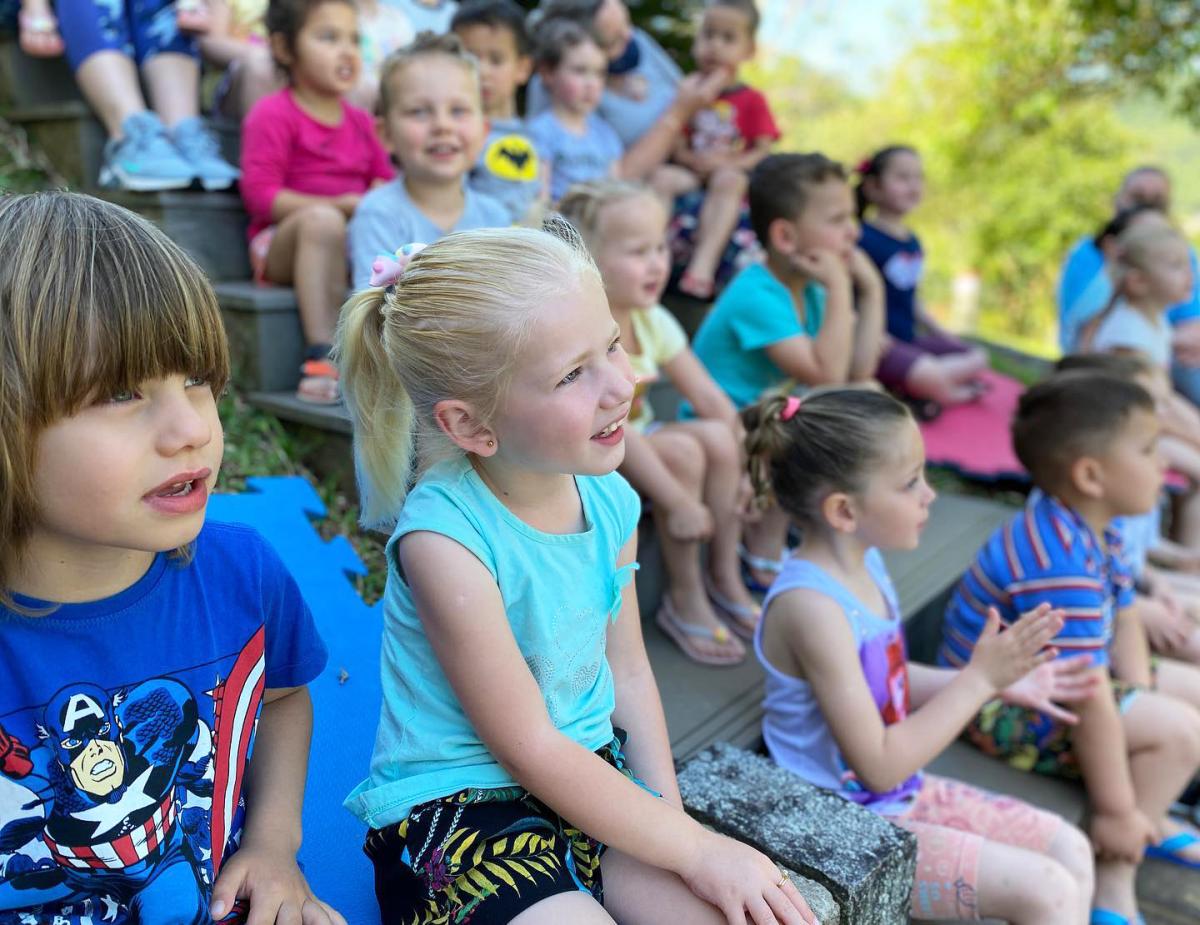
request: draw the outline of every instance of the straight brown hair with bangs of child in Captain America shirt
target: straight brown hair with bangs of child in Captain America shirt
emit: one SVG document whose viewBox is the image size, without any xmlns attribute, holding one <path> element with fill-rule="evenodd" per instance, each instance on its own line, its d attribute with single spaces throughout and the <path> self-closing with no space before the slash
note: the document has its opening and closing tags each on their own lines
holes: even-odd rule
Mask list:
<svg viewBox="0 0 1200 925">
<path fill-rule="evenodd" d="M 0 198 L 0 602 L 37 522 L 38 434 L 148 379 L 229 378 L 200 269 L 150 222 L 90 196 Z"/>
</svg>

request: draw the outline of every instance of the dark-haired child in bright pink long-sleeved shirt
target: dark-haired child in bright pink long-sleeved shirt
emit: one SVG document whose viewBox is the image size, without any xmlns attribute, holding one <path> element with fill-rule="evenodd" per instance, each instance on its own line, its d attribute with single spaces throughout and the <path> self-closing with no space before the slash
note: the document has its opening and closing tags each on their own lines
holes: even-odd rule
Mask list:
<svg viewBox="0 0 1200 925">
<path fill-rule="evenodd" d="M 254 278 L 294 286 L 308 349 L 296 396 L 340 401 L 329 361 L 346 298 L 346 226 L 362 194 L 392 176 L 372 118 L 344 101 L 355 88 L 358 17 L 349 0 L 275 0 L 271 49 L 289 85 L 242 125 L 241 194 Z"/>
</svg>

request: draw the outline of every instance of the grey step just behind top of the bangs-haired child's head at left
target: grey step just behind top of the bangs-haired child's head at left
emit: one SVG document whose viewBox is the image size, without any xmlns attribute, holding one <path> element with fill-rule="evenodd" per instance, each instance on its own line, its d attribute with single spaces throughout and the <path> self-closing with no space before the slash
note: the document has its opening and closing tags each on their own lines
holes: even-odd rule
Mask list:
<svg viewBox="0 0 1200 925">
<path fill-rule="evenodd" d="M 182 247 L 214 281 L 250 276 L 246 247 L 246 210 L 235 192 L 179 190 L 131 193 L 92 190 L 92 196 L 116 203 L 149 218 Z"/>
</svg>

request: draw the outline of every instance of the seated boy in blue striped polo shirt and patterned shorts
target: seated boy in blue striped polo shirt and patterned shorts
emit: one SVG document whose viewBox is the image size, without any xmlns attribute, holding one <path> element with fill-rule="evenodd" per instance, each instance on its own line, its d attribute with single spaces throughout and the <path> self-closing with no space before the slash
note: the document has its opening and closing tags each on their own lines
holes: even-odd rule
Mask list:
<svg viewBox="0 0 1200 925">
<path fill-rule="evenodd" d="M 1134 382 L 1081 371 L 1030 389 L 1013 445 L 1037 487 L 964 576 L 938 653 L 943 666 L 965 663 L 990 607 L 1004 625 L 1043 602 L 1067 613 L 1058 657 L 1093 666 L 1074 715 L 994 701 L 967 737 L 1021 770 L 1082 780 L 1098 854 L 1094 925 L 1138 920 L 1144 852 L 1200 867 L 1200 837 L 1166 815 L 1200 767 L 1200 673 L 1168 660 L 1152 669 L 1115 523 L 1157 503 L 1158 434 L 1154 402 Z"/>
</svg>

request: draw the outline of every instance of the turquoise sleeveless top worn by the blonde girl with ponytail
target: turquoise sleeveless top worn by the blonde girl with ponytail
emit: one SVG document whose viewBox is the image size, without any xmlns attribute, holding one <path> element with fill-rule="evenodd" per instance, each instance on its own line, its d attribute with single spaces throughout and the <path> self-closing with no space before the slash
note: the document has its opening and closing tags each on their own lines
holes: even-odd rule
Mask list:
<svg viewBox="0 0 1200 925">
<path fill-rule="evenodd" d="M 617 473 L 580 475 L 575 483 L 587 529 L 572 534 L 542 533 L 521 521 L 463 457 L 433 465 L 409 493 L 386 547 L 383 709 L 371 773 L 346 798 L 368 825 L 400 822 L 413 806 L 467 787 L 515 783 L 472 727 L 421 629 L 396 553 L 409 533 L 449 536 L 492 573 L 559 732 L 589 751 L 612 740 L 606 631 L 636 567 L 618 569 L 617 558 L 637 529 L 641 501 Z"/>
</svg>

